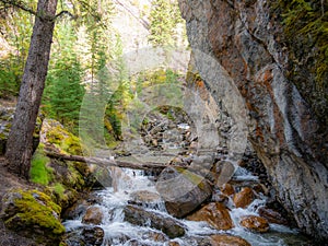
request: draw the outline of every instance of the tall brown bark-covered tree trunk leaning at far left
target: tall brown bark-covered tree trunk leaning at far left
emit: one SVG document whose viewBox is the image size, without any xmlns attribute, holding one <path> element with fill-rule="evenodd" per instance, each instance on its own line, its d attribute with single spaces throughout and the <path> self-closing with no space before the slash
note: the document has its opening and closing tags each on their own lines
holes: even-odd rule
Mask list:
<svg viewBox="0 0 328 246">
<path fill-rule="evenodd" d="M 55 27 L 57 0 L 38 0 L 20 96 L 7 142 L 10 173 L 30 178 L 33 132 L 44 92 Z"/>
</svg>

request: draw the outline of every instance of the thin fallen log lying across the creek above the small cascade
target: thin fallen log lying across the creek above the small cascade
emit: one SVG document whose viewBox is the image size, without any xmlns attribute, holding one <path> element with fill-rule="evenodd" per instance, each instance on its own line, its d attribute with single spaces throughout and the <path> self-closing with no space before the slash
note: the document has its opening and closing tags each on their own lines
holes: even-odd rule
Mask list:
<svg viewBox="0 0 328 246">
<path fill-rule="evenodd" d="M 121 160 L 108 160 L 108 159 L 99 159 L 99 157 L 84 157 L 81 155 L 70 155 L 70 154 L 61 154 L 58 152 L 48 152 L 45 151 L 46 155 L 54 159 L 66 160 L 66 161 L 73 161 L 73 162 L 83 162 L 89 164 L 96 164 L 99 166 L 117 166 L 124 168 L 131 168 L 131 169 L 164 169 L 166 167 L 178 167 L 178 168 L 187 168 L 184 165 L 171 165 L 164 163 L 136 163 L 129 161 L 121 161 Z"/>
</svg>

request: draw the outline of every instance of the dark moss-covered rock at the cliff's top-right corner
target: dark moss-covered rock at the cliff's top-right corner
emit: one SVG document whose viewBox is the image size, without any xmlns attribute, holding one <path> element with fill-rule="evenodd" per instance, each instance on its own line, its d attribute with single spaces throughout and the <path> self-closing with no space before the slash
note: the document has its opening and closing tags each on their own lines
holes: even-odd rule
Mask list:
<svg viewBox="0 0 328 246">
<path fill-rule="evenodd" d="M 288 78 L 328 124 L 328 12 L 321 0 L 274 0 L 273 16 L 282 24 L 281 43 L 289 50 Z"/>
</svg>

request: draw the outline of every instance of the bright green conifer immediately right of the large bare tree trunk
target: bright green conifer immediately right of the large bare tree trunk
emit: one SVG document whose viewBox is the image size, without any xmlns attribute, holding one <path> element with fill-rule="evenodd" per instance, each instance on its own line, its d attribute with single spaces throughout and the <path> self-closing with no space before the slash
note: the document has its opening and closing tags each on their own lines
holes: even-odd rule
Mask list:
<svg viewBox="0 0 328 246">
<path fill-rule="evenodd" d="M 84 95 L 83 69 L 74 50 L 77 37 L 69 21 L 56 30 L 60 46 L 52 55 L 44 94 L 47 113 L 71 130 L 77 130 Z"/>
</svg>

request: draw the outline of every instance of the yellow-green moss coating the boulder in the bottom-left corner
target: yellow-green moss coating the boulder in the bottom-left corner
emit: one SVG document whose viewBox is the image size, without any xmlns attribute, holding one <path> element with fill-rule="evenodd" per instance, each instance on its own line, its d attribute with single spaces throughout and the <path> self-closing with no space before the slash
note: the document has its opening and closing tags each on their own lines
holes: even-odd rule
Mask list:
<svg viewBox="0 0 328 246">
<path fill-rule="evenodd" d="M 47 195 L 38 190 L 22 189 L 13 192 L 20 194 L 21 197 L 14 199 L 15 213 L 5 221 L 7 226 L 26 230 L 40 227 L 49 237 L 65 233 L 65 227 L 58 220 L 61 208 Z"/>
</svg>

